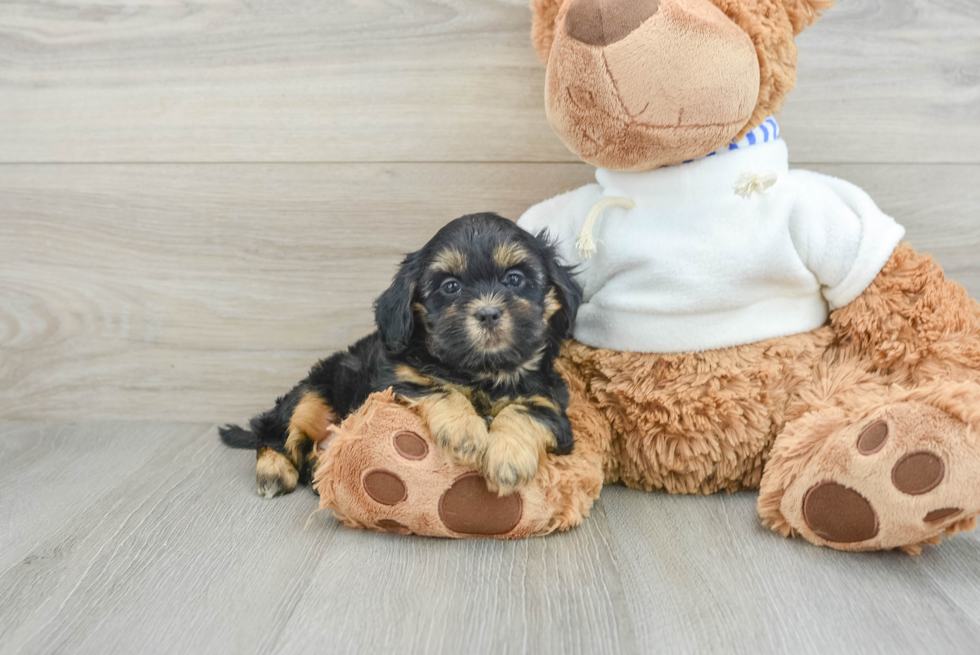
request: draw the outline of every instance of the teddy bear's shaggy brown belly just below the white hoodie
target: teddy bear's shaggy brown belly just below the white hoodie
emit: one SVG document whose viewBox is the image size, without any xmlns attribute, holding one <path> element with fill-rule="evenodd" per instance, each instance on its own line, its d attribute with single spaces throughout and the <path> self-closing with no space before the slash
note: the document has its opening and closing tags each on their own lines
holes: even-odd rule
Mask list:
<svg viewBox="0 0 980 655">
<path fill-rule="evenodd" d="M 570 342 L 564 357 L 588 379 L 612 433 L 606 481 L 646 491 L 710 494 L 758 489 L 775 435 L 809 406 L 833 340 L 829 328 L 699 353 L 661 355 Z"/>
</svg>

